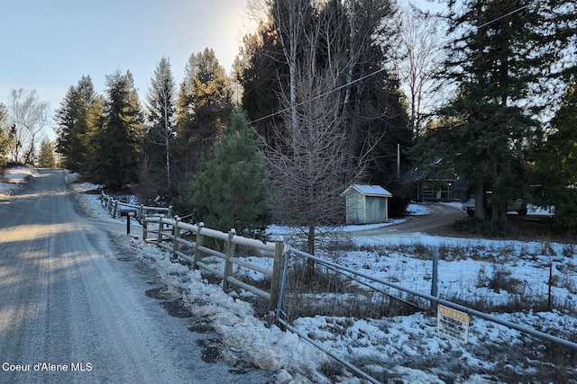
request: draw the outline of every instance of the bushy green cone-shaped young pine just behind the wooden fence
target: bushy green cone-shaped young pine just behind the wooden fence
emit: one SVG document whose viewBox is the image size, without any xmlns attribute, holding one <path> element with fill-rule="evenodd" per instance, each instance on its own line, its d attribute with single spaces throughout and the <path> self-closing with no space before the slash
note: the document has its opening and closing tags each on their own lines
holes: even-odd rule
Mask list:
<svg viewBox="0 0 577 384">
<path fill-rule="evenodd" d="M 180 207 L 197 210 L 209 228 L 253 234 L 268 224 L 269 185 L 252 129 L 245 115 L 235 112 L 200 172 L 183 183 Z"/>
</svg>

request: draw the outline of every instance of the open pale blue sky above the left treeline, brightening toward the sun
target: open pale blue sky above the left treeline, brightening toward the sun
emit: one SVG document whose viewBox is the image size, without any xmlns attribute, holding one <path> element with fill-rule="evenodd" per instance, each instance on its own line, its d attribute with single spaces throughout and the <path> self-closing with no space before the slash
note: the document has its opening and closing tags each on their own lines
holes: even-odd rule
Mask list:
<svg viewBox="0 0 577 384">
<path fill-rule="evenodd" d="M 81 76 L 102 94 L 116 70 L 133 73 L 143 101 L 160 58 L 179 84 L 205 48 L 230 72 L 246 19 L 246 0 L 0 0 L 0 103 L 35 89 L 54 110 Z"/>
</svg>

